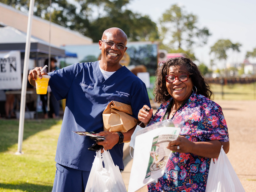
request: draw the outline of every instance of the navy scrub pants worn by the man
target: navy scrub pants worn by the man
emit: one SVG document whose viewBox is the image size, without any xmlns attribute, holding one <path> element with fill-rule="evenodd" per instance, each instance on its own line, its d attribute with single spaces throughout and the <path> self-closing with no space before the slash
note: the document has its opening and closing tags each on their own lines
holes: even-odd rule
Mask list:
<svg viewBox="0 0 256 192">
<path fill-rule="evenodd" d="M 52 192 L 84 192 L 89 171 L 81 171 L 56 163 Z"/>
</svg>

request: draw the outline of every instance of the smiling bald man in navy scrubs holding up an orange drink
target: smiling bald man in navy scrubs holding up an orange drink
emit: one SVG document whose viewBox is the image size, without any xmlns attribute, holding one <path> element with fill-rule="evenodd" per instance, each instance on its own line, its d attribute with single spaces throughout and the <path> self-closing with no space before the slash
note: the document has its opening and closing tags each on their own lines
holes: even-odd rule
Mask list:
<svg viewBox="0 0 256 192">
<path fill-rule="evenodd" d="M 102 113 L 112 100 L 131 105 L 138 118 L 143 105 L 150 106 L 145 84 L 119 61 L 126 51 L 127 36 L 119 28 L 104 31 L 99 48 L 101 60 L 76 63 L 49 73 L 49 85 L 57 100 L 66 99 L 66 108 L 55 156 L 56 174 L 52 191 L 83 192 L 92 168 L 95 152 L 89 151 L 95 141 L 72 131 L 100 132 L 106 139 L 99 142 L 109 149 L 114 164 L 124 169 L 123 141 L 130 141 L 134 127 L 126 133 L 103 132 Z M 42 67 L 29 72 L 35 86 Z"/>
</svg>

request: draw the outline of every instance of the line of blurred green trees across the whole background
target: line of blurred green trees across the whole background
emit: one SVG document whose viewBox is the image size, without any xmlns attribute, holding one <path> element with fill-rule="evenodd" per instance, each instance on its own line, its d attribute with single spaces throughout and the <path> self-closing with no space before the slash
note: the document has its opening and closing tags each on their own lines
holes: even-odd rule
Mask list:
<svg viewBox="0 0 256 192">
<path fill-rule="evenodd" d="M 23 12 L 28 12 L 29 0 L 0 0 Z M 63 27 L 79 31 L 84 36 L 98 42 L 102 33 L 109 27 L 124 30 L 129 41 L 158 41 L 159 48 L 170 53 L 186 53 L 196 57 L 193 47 L 207 44 L 211 33 L 207 27 L 199 27 L 198 17 L 186 12 L 184 7 L 173 4 L 159 20 L 159 28 L 148 15 L 134 13 L 127 9 L 130 0 L 48 0 L 35 1 L 34 15 Z M 240 43 L 229 39 L 219 39 L 211 46 L 211 52 L 217 60 L 226 61 L 227 51 L 240 52 Z M 256 48 L 247 52 L 245 58 L 256 57 Z M 211 60 L 211 65 L 214 65 Z M 204 66 L 203 66 L 204 67 Z"/>
</svg>

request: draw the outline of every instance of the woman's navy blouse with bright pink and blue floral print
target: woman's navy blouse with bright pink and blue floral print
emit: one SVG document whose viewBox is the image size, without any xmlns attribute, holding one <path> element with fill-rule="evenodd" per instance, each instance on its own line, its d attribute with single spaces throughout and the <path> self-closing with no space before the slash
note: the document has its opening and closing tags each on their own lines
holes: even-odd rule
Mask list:
<svg viewBox="0 0 256 192">
<path fill-rule="evenodd" d="M 171 100 L 172 98 L 161 104 L 148 125 L 163 120 Z M 185 121 L 180 135 L 190 141 L 229 141 L 228 128 L 221 107 L 203 95 L 192 93 L 172 120 Z M 164 176 L 148 185 L 148 191 L 204 192 L 210 162 L 210 158 L 173 152 L 167 161 Z"/>
</svg>

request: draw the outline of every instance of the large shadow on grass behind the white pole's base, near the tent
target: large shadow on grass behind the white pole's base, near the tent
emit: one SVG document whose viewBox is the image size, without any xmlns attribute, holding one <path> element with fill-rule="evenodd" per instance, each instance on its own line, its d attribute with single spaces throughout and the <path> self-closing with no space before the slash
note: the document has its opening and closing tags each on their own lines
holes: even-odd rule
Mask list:
<svg viewBox="0 0 256 192">
<path fill-rule="evenodd" d="M 23 140 L 26 140 L 31 135 L 47 129 L 53 125 L 59 124 L 59 120 L 44 119 L 44 120 L 26 120 L 24 123 Z M 19 135 L 19 120 L 0 120 L 0 153 L 8 150 L 9 147 L 18 143 Z"/>
</svg>

